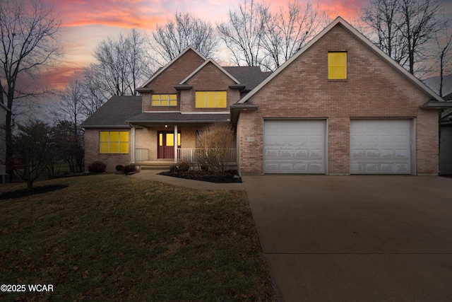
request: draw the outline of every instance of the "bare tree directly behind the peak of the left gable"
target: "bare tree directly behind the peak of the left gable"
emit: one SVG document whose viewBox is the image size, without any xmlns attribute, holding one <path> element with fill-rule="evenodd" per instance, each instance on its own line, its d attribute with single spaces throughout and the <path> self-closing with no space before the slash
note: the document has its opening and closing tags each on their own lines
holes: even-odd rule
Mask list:
<svg viewBox="0 0 452 302">
<path fill-rule="evenodd" d="M 176 13 L 175 22 L 157 24 L 153 32 L 153 50 L 165 61 L 192 46 L 204 57 L 213 57 L 218 46 L 218 37 L 212 25 L 189 13 Z"/>
</svg>

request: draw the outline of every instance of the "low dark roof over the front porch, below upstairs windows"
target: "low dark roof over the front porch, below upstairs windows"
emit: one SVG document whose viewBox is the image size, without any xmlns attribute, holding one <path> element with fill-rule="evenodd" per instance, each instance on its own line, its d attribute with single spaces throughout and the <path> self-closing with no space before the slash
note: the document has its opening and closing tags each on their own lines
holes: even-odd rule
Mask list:
<svg viewBox="0 0 452 302">
<path fill-rule="evenodd" d="M 126 120 L 131 124 L 198 124 L 229 122 L 230 113 L 142 112 Z"/>
</svg>

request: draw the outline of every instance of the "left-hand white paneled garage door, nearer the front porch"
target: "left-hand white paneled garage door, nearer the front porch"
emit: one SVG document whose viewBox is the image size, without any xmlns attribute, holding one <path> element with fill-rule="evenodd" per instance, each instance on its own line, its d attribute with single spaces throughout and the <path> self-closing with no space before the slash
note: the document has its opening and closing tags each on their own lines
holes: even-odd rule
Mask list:
<svg viewBox="0 0 452 302">
<path fill-rule="evenodd" d="M 325 120 L 266 120 L 264 173 L 325 173 Z"/>
</svg>

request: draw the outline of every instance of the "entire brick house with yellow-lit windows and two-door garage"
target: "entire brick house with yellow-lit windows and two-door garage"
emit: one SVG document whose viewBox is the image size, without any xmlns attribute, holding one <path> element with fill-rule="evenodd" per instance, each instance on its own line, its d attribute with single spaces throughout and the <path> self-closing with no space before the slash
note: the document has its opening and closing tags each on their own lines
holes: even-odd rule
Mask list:
<svg viewBox="0 0 452 302">
<path fill-rule="evenodd" d="M 177 162 L 227 121 L 241 174 L 438 175 L 450 105 L 340 17 L 270 75 L 189 47 L 138 91 L 83 122 L 86 163 Z"/>
</svg>

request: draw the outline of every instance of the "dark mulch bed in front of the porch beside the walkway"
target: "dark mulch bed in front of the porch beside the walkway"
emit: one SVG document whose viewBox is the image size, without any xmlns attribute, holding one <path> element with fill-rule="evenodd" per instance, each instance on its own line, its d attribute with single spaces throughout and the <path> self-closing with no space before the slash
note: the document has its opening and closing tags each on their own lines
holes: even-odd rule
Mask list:
<svg viewBox="0 0 452 302">
<path fill-rule="evenodd" d="M 216 183 L 230 183 L 230 182 L 242 182 L 242 178 L 236 170 L 225 171 L 223 173 L 215 173 L 213 171 L 203 170 L 189 170 L 189 171 L 177 171 L 177 172 L 162 172 L 160 175 L 172 176 L 174 178 L 186 178 L 189 180 L 201 180 L 206 182 Z"/>
</svg>

